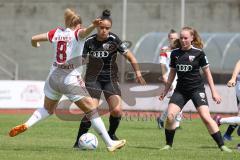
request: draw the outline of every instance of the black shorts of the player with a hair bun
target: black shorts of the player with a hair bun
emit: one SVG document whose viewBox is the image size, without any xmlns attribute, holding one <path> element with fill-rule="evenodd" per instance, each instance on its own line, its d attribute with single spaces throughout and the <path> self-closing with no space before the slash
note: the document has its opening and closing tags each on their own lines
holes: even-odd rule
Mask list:
<svg viewBox="0 0 240 160">
<path fill-rule="evenodd" d="M 87 90 L 92 98 L 100 99 L 101 93 L 104 93 L 106 99 L 112 95 L 121 96 L 121 90 L 118 82 L 93 81 L 86 82 Z"/>
</svg>

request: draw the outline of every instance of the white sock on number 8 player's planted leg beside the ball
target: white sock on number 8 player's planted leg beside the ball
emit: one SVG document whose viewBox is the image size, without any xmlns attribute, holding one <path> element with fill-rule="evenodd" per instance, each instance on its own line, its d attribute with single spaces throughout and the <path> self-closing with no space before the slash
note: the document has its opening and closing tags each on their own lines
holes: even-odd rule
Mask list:
<svg viewBox="0 0 240 160">
<path fill-rule="evenodd" d="M 91 117 L 92 118 L 90 121 L 92 123 L 93 129 L 102 137 L 103 141 L 108 147 L 112 146 L 114 144 L 114 141 L 109 137 L 101 117 L 99 117 L 97 113 L 95 113 Z"/>
</svg>

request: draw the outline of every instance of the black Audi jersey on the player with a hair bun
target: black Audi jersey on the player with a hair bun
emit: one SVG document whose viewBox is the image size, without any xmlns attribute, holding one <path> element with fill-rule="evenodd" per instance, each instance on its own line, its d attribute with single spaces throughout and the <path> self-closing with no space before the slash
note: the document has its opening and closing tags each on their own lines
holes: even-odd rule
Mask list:
<svg viewBox="0 0 240 160">
<path fill-rule="evenodd" d="M 87 38 L 83 49 L 83 56 L 89 57 L 86 81 L 118 81 L 117 53 L 127 53 L 117 35 L 109 33 L 104 41 L 98 41 L 96 34 Z"/>
</svg>

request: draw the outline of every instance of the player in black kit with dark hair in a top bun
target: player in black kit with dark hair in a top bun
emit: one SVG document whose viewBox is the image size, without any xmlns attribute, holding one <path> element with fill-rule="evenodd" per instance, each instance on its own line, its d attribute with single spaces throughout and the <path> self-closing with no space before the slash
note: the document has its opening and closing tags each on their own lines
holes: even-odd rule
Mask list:
<svg viewBox="0 0 240 160">
<path fill-rule="evenodd" d="M 104 93 L 110 109 L 108 133 L 112 139 L 116 140 L 118 138 L 115 132 L 122 115 L 121 91 L 116 63 L 118 52 L 131 63 L 136 73 L 137 82 L 140 84 L 146 82 L 141 75 L 136 58 L 118 36 L 110 32 L 112 27 L 110 11 L 104 10 L 101 19 L 102 23 L 97 27 L 97 34 L 90 36 L 85 41 L 83 57 L 88 57 L 85 81 L 89 94 L 97 104 L 99 104 L 101 93 Z M 77 147 L 79 137 L 86 133 L 90 126 L 91 122 L 84 117 L 74 147 Z"/>
</svg>

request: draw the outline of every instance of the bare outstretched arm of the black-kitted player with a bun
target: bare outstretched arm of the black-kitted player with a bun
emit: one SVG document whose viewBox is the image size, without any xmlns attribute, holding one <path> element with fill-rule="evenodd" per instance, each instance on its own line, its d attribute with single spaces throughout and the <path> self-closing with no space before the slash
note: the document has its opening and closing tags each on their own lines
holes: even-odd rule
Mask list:
<svg viewBox="0 0 240 160">
<path fill-rule="evenodd" d="M 134 55 L 132 54 L 131 51 L 127 51 L 126 54 L 124 54 L 125 58 L 131 63 L 133 70 L 136 74 L 136 80 L 138 83 L 145 85 L 146 81 L 145 79 L 142 77 L 142 73 L 140 71 L 140 67 L 138 65 L 137 59 L 134 57 Z"/>
</svg>

